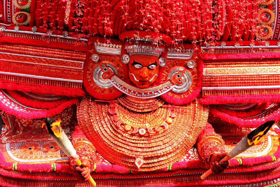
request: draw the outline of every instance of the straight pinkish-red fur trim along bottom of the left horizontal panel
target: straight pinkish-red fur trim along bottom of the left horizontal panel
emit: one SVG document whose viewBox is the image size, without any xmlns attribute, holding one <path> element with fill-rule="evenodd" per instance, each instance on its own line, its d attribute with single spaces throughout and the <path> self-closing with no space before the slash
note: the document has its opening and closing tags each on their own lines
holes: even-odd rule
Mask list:
<svg viewBox="0 0 280 187">
<path fill-rule="evenodd" d="M 28 83 L 17 83 L 12 81 L 1 81 L 0 89 L 18 90 L 24 92 L 34 92 L 53 94 L 53 95 L 65 95 L 71 97 L 83 96 L 85 93 L 82 89 L 76 88 L 63 88 L 57 86 L 48 85 L 38 85 L 38 84 L 28 84 Z"/>
</svg>

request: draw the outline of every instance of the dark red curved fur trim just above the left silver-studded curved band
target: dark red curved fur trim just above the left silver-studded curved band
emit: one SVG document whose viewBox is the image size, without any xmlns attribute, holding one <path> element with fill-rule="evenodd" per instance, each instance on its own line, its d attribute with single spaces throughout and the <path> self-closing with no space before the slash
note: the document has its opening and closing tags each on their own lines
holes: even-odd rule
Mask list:
<svg viewBox="0 0 280 187">
<path fill-rule="evenodd" d="M 77 98 L 70 98 L 70 97 L 63 97 L 58 100 L 54 101 L 41 101 L 41 100 L 31 100 L 30 98 L 22 97 L 18 92 L 13 91 L 13 90 L 6 90 L 6 92 L 17 102 L 26 105 L 28 107 L 32 108 L 38 108 L 38 109 L 52 109 L 56 108 L 59 105 L 65 103 L 65 102 L 70 102 L 69 107 L 73 104 L 77 103 Z M 67 107 L 68 108 L 68 107 Z"/>
</svg>

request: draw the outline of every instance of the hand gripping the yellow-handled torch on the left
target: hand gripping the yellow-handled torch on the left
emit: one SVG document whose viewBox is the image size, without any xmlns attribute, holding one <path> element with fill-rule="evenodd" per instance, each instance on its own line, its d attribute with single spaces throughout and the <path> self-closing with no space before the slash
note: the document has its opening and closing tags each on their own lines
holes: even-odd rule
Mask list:
<svg viewBox="0 0 280 187">
<path fill-rule="evenodd" d="M 82 159 L 81 162 L 83 167 L 80 167 L 78 165 L 73 165 L 73 169 L 74 169 L 74 174 L 76 175 L 78 180 L 80 180 L 81 182 L 85 182 L 89 180 L 91 174 L 90 172 L 91 163 L 87 159 Z"/>
</svg>

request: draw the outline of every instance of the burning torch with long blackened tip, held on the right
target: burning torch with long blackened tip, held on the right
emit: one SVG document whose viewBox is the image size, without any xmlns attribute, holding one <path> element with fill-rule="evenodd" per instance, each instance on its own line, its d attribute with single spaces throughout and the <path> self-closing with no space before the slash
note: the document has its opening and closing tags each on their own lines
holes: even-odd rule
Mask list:
<svg viewBox="0 0 280 187">
<path fill-rule="evenodd" d="M 268 132 L 270 127 L 274 124 L 274 121 L 268 121 L 256 128 L 254 131 L 247 134 L 238 144 L 220 161 L 225 162 L 233 157 L 239 155 L 243 151 L 247 150 L 249 147 L 257 144 L 260 141 L 260 138 Z M 212 174 L 212 170 L 209 169 L 200 178 L 203 180 L 209 175 Z"/>
</svg>

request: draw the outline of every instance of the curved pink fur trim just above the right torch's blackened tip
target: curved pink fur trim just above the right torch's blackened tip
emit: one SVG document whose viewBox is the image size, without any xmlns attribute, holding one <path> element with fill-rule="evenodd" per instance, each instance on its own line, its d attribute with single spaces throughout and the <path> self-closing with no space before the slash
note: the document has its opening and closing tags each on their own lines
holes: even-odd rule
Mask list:
<svg viewBox="0 0 280 187">
<path fill-rule="evenodd" d="M 279 121 L 280 120 L 280 113 L 273 113 L 272 115 L 267 116 L 266 118 L 261 118 L 261 120 L 241 120 L 241 118 L 230 116 L 226 113 L 222 113 L 216 109 L 211 109 L 209 112 L 212 113 L 213 116 L 219 117 L 222 120 L 236 124 L 240 127 L 258 127 L 265 122 L 270 120 Z"/>
</svg>

